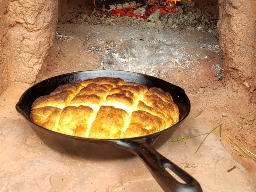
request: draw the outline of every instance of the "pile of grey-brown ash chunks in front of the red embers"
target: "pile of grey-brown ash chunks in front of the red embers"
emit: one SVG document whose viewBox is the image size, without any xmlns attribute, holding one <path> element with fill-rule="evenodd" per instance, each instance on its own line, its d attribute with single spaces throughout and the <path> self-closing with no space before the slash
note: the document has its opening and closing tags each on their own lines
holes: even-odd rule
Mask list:
<svg viewBox="0 0 256 192">
<path fill-rule="evenodd" d="M 212 9 L 217 8 L 217 11 Z M 101 15 L 100 10 L 94 9 L 92 14 L 80 14 L 72 19 L 74 23 L 85 22 L 94 25 L 128 25 L 142 28 L 159 28 L 159 29 L 179 29 L 179 30 L 198 30 L 218 33 L 217 22 L 219 13 L 217 3 L 204 4 L 195 6 L 194 3 L 183 4 L 177 2 L 174 6 L 175 12 L 161 15 L 155 20 L 135 18 L 118 15 Z M 212 11 L 213 10 L 213 11 Z M 80 12 L 81 13 L 81 12 Z"/>
</svg>

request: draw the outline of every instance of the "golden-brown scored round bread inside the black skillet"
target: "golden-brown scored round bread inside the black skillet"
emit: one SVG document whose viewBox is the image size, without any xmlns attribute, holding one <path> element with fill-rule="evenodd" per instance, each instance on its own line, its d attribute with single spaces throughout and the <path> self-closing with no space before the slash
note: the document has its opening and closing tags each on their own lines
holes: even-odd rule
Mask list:
<svg viewBox="0 0 256 192">
<path fill-rule="evenodd" d="M 122 139 L 167 129 L 179 121 L 179 109 L 171 94 L 160 88 L 97 77 L 60 85 L 37 98 L 30 118 L 66 135 Z"/>
</svg>

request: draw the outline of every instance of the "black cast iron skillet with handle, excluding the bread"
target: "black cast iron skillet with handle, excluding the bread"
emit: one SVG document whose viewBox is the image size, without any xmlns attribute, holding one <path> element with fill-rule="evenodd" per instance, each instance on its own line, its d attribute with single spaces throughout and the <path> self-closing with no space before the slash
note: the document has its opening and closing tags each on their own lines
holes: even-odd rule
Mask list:
<svg viewBox="0 0 256 192">
<path fill-rule="evenodd" d="M 180 111 L 180 121 L 170 128 L 143 137 L 131 139 L 87 139 L 52 132 L 33 123 L 29 117 L 32 103 L 42 95 L 49 95 L 59 85 L 77 80 L 85 80 L 100 76 L 120 77 L 125 82 L 137 82 L 150 87 L 158 87 L 169 92 Z M 69 73 L 46 79 L 30 87 L 16 104 L 17 111 L 27 120 L 38 137 L 51 148 L 60 152 L 68 152 L 77 156 L 96 159 L 127 158 L 139 156 L 153 177 L 165 192 L 201 192 L 199 183 L 176 164 L 159 154 L 155 148 L 167 141 L 180 126 L 190 111 L 190 101 L 184 90 L 156 77 L 127 71 L 94 70 Z M 180 183 L 169 174 L 169 168 L 186 184 Z"/>
</svg>

